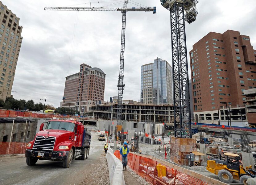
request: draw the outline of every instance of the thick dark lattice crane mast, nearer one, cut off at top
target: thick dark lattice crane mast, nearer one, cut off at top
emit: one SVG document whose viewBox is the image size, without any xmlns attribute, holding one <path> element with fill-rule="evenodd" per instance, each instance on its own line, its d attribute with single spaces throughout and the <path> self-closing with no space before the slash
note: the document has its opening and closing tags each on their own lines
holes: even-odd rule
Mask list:
<svg viewBox="0 0 256 185">
<path fill-rule="evenodd" d="M 196 21 L 198 0 L 160 0 L 170 11 L 175 137 L 192 138 L 185 21 Z M 185 12 L 185 13 L 184 13 Z"/>
</svg>

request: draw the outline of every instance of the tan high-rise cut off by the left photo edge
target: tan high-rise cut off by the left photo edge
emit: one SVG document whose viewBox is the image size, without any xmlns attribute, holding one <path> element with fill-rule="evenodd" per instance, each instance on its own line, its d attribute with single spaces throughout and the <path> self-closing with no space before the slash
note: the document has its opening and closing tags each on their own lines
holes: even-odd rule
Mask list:
<svg viewBox="0 0 256 185">
<path fill-rule="evenodd" d="M 0 99 L 10 97 L 22 43 L 19 18 L 0 1 Z"/>
</svg>

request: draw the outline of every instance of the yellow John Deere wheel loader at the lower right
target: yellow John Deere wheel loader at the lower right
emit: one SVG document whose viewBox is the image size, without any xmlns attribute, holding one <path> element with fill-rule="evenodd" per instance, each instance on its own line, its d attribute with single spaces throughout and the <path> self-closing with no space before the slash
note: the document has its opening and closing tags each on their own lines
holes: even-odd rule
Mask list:
<svg viewBox="0 0 256 185">
<path fill-rule="evenodd" d="M 240 183 L 247 185 L 249 177 L 256 177 L 256 171 L 250 167 L 243 168 L 239 155 L 224 153 L 226 160 L 209 159 L 207 160 L 206 169 L 218 175 L 219 179 L 224 183 L 232 183 L 233 179 L 240 180 Z"/>
</svg>

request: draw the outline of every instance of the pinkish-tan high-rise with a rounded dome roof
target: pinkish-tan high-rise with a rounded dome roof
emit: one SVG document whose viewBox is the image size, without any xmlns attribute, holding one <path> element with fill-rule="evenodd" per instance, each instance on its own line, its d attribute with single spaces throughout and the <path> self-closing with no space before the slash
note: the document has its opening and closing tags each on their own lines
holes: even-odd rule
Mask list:
<svg viewBox="0 0 256 185">
<path fill-rule="evenodd" d="M 104 100 L 106 74 L 99 68 L 80 65 L 80 72 L 66 77 L 61 107 L 85 112 Z"/>
</svg>

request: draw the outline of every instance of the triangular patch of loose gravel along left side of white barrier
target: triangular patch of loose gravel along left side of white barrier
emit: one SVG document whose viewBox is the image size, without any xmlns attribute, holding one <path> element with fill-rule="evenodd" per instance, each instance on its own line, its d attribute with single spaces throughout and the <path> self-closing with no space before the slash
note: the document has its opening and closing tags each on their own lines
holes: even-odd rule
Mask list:
<svg viewBox="0 0 256 185">
<path fill-rule="evenodd" d="M 109 170 L 108 163 L 105 158 L 105 153 L 101 154 L 100 158 L 93 165 L 93 168 L 90 170 L 80 185 L 109 185 Z"/>
</svg>

